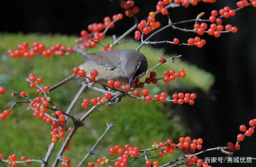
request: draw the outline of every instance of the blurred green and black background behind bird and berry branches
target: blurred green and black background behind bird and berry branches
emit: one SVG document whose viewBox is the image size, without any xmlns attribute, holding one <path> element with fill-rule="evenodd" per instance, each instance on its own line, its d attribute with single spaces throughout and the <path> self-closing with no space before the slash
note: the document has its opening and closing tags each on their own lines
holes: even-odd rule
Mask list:
<svg viewBox="0 0 256 167">
<path fill-rule="evenodd" d="M 136 1 L 143 10 L 138 18 L 144 18 L 148 12 L 155 9 L 157 1 Z M 119 12 L 124 13 L 118 6 L 118 1 L 44 1 L 38 6 L 34 1 L 4 1 L 5 8 L 0 11 L 0 80 L 3 85 L 16 91 L 28 91 L 31 98 L 35 97 L 35 90 L 29 89 L 25 78 L 29 73 L 44 78 L 44 85 L 54 85 L 66 76 L 70 75 L 72 68 L 83 62 L 81 55 L 71 54 L 66 57 L 54 57 L 44 59 L 10 59 L 7 54 L 9 48 L 15 49 L 22 41 L 38 41 L 51 47 L 59 42 L 63 45 L 74 46 L 74 40 L 82 29 L 88 24 L 102 22 L 106 15 Z M 99 5 L 100 4 L 100 5 Z M 175 8 L 171 10 L 173 22 L 195 18 L 201 11 L 211 11 L 230 5 L 236 8 L 236 1 L 217 1 L 215 4 L 199 3 L 198 6 L 188 9 Z M 108 6 L 108 8 L 106 8 Z M 12 15 L 10 10 L 12 9 Z M 203 138 L 204 147 L 210 148 L 225 145 L 227 142 L 235 142 L 239 133 L 240 124 L 248 124 L 248 120 L 256 117 L 256 10 L 252 6 L 236 13 L 233 18 L 223 20 L 225 24 L 236 25 L 239 31 L 236 34 L 223 34 L 219 39 L 205 35 L 203 38 L 207 44 L 202 48 L 177 47 L 173 45 L 157 45 L 154 48 L 143 47 L 141 52 L 147 55 L 150 66 L 157 62 L 157 58 L 165 54 L 166 57 L 174 54 L 182 54 L 182 61 L 175 61 L 157 68 L 157 71 L 165 69 L 186 69 L 187 76 L 170 84 L 160 83 L 157 87 L 150 87 L 152 91 L 161 92 L 196 92 L 198 98 L 194 106 L 172 105 L 169 103 L 141 103 L 134 99 L 125 98 L 116 106 L 100 108 L 86 121 L 83 128 L 72 140 L 67 155 L 76 166 L 86 154 L 88 148 L 106 128 L 106 122 L 115 122 L 116 126 L 109 131 L 105 140 L 95 150 L 97 156 L 102 156 L 108 151 L 108 147 L 114 144 L 139 145 L 141 149 L 148 148 L 153 142 L 173 138 L 177 140 L 181 135 L 190 135 L 192 138 Z M 209 12 L 204 18 L 209 16 Z M 162 17 L 157 17 L 164 24 Z M 108 35 L 124 33 L 132 20 L 124 18 L 116 24 L 116 28 L 109 31 Z M 127 27 L 127 28 L 125 28 Z M 191 24 L 184 27 L 192 27 Z M 36 34 L 35 34 L 36 33 Z M 39 33 L 39 34 L 38 34 Z M 47 35 L 45 35 L 47 34 Z M 67 36 L 68 35 L 68 36 Z M 133 35 L 131 34 L 131 37 Z M 180 41 L 186 41 L 195 34 L 184 34 L 179 31 L 164 31 L 153 40 L 170 40 L 174 37 Z M 102 43 L 110 42 L 109 37 Z M 136 43 L 125 43 L 116 47 L 134 48 Z M 157 50 L 156 47 L 161 48 Z M 164 48 L 164 49 L 163 49 Z M 100 48 L 90 50 L 96 52 Z M 188 63 L 189 62 L 189 63 Z M 161 73 L 160 72 L 160 73 Z M 51 95 L 52 101 L 62 110 L 67 109 L 68 102 L 79 89 L 79 83 L 69 83 L 59 91 Z M 72 90 L 72 91 L 70 91 Z M 74 91 L 73 91 L 74 90 Z M 83 98 L 90 98 L 94 92 L 88 91 Z M 65 98 L 63 98 L 65 97 Z M 12 98 L 5 94 L 0 96 L 0 110 L 12 105 Z M 82 101 L 82 99 L 80 99 Z M 132 103 L 132 106 L 130 105 Z M 134 106 L 136 107 L 134 107 Z M 83 113 L 79 105 L 74 110 L 79 117 Z M 103 117 L 102 117 L 103 116 Z M 44 157 L 45 150 L 51 140 L 49 133 L 51 127 L 45 125 L 40 119 L 34 119 L 31 112 L 26 110 L 26 105 L 20 105 L 13 110 L 10 117 L 0 122 L 0 152 L 4 155 L 17 153 L 31 158 Z M 21 131 L 21 129 L 23 131 Z M 45 142 L 47 141 L 47 142 Z M 8 145 L 8 147 L 7 147 Z M 58 145 L 58 147 L 60 147 Z M 58 148 L 57 148 L 58 149 Z M 255 135 L 246 138 L 241 143 L 241 150 L 236 155 L 255 155 Z M 74 154 L 76 152 L 77 154 Z M 179 156 L 179 152 L 173 157 Z M 207 154 L 203 157 L 209 157 Z M 221 156 L 221 154 L 214 154 Z M 168 156 L 164 161 L 170 161 Z M 141 159 L 132 166 L 142 166 Z M 0 163 L 0 166 L 4 165 Z M 36 164 L 33 164 L 36 165 Z M 228 164 L 213 164 L 214 166 L 228 166 Z M 229 166 L 234 166 L 230 164 Z M 241 166 L 239 164 L 238 166 Z M 243 164 L 243 166 L 255 166 Z"/>
</svg>

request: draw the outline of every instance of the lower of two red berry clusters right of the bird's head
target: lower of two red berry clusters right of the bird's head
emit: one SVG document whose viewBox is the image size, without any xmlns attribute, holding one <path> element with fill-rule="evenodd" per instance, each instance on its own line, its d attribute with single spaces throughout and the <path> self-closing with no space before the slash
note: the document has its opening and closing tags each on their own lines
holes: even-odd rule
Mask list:
<svg viewBox="0 0 256 167">
<path fill-rule="evenodd" d="M 179 105 L 182 105 L 183 103 L 189 103 L 189 105 L 194 105 L 195 104 L 195 101 L 194 99 L 196 98 L 196 94 L 195 93 L 182 93 L 180 92 L 179 94 L 173 94 L 172 96 L 173 98 L 173 103 L 174 104 L 179 104 Z"/>
</svg>

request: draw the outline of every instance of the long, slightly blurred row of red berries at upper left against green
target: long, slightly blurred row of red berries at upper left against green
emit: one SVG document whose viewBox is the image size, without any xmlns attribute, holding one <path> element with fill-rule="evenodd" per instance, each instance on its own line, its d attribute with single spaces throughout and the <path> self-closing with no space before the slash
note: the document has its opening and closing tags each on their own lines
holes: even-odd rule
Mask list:
<svg viewBox="0 0 256 167">
<path fill-rule="evenodd" d="M 73 52 L 72 47 L 66 47 L 65 45 L 61 45 L 60 43 L 56 43 L 50 49 L 45 49 L 45 45 L 43 43 L 34 42 L 33 47 L 29 49 L 28 41 L 24 41 L 22 44 L 18 45 L 18 50 L 9 50 L 8 53 L 10 57 L 24 57 L 29 59 L 31 57 L 35 57 L 35 55 L 43 55 L 44 57 L 50 58 L 53 55 L 63 56 L 65 54 L 70 54 Z"/>
</svg>

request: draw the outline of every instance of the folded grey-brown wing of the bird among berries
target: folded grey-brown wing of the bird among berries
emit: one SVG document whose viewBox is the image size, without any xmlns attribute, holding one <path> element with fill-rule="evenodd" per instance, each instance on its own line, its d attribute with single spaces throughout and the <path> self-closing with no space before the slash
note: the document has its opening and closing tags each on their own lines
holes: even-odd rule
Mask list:
<svg viewBox="0 0 256 167">
<path fill-rule="evenodd" d="M 100 66 L 106 66 L 107 68 L 115 69 L 118 64 L 116 64 L 115 60 L 113 60 L 111 55 L 109 53 L 107 54 L 107 52 L 108 51 L 86 54 L 83 57 L 86 61 L 91 61 Z"/>
</svg>

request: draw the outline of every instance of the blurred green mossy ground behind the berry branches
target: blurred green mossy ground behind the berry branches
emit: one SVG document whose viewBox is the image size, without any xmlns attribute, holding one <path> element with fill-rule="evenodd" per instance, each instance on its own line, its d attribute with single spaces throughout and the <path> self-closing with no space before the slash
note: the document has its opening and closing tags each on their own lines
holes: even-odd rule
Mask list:
<svg viewBox="0 0 256 167">
<path fill-rule="evenodd" d="M 52 86 L 70 75 L 72 69 L 83 62 L 81 54 L 70 54 L 65 57 L 53 57 L 51 59 L 44 57 L 10 59 L 8 49 L 15 50 L 22 41 L 29 41 L 30 44 L 38 41 L 44 43 L 47 48 L 55 43 L 72 47 L 75 39 L 76 36 L 63 35 L 0 34 L 0 82 L 3 83 L 4 87 L 17 92 L 28 92 L 28 98 L 35 98 L 36 89 L 29 89 L 29 83 L 25 81 L 29 73 L 34 73 L 36 77 L 43 77 L 42 85 Z M 102 43 L 110 43 L 111 41 L 112 38 L 106 38 Z M 136 48 L 137 46 L 138 43 L 124 43 L 116 46 L 115 49 Z M 100 50 L 99 47 L 90 50 L 90 52 L 97 52 L 98 50 Z M 158 57 L 170 57 L 170 55 L 163 55 L 163 50 L 148 46 L 141 48 L 141 52 L 147 56 L 150 67 L 157 63 Z M 151 90 L 152 95 L 153 93 L 170 91 L 177 87 L 199 88 L 206 92 L 211 88 L 214 77 L 210 73 L 179 59 L 176 59 L 175 63 L 166 62 L 156 68 L 155 71 L 159 76 L 163 76 L 163 71 L 166 69 L 179 70 L 180 68 L 186 70 L 186 78 L 179 78 L 175 82 L 167 84 L 159 81 L 157 85 L 146 85 L 146 87 Z M 65 111 L 78 89 L 79 82 L 68 83 L 65 87 L 49 94 L 49 96 L 52 98 L 54 105 Z M 78 118 L 84 113 L 80 106 L 83 98 L 92 98 L 98 95 L 102 96 L 98 92 L 84 92 L 72 112 L 74 117 Z M 9 108 L 13 100 L 19 101 L 21 99 L 11 97 L 10 92 L 0 95 L 0 112 Z M 0 153 L 3 153 L 5 158 L 15 153 L 19 157 L 25 155 L 31 159 L 38 159 L 45 156 L 48 145 L 51 143 L 51 125 L 45 124 L 38 118 L 35 119 L 32 112 L 26 110 L 26 107 L 26 104 L 15 106 L 10 116 L 4 121 L 0 121 Z M 116 126 L 109 131 L 95 150 L 96 155 L 91 156 L 89 160 L 96 161 L 97 158 L 108 152 L 108 147 L 116 144 L 124 146 L 125 143 L 130 143 L 132 146 L 146 149 L 152 143 L 161 142 L 167 138 L 177 140 L 179 136 L 184 135 L 185 131 L 178 122 L 168 119 L 172 112 L 168 104 L 164 105 L 156 101 L 146 103 L 130 98 L 124 98 L 121 103 L 113 106 L 102 106 L 92 113 L 86 120 L 84 127 L 78 129 L 72 139 L 70 150 L 65 152 L 65 155 L 71 159 L 72 166 L 77 166 L 88 152 L 88 148 L 92 147 L 93 143 L 103 133 L 106 122 L 114 122 Z M 68 126 L 71 126 L 71 124 L 68 124 Z M 53 157 L 60 148 L 61 140 L 54 151 Z M 150 156 L 156 156 L 155 153 L 152 152 Z M 173 156 L 166 156 L 163 161 L 172 161 L 180 154 L 180 152 L 175 152 Z M 111 158 L 111 156 L 109 157 Z M 131 166 L 143 166 L 144 163 L 145 159 L 139 159 L 134 161 Z M 0 162 L 0 166 L 6 166 L 6 164 Z M 19 166 L 26 166 L 26 164 Z M 40 164 L 33 163 L 33 166 L 40 166 Z"/>
</svg>

